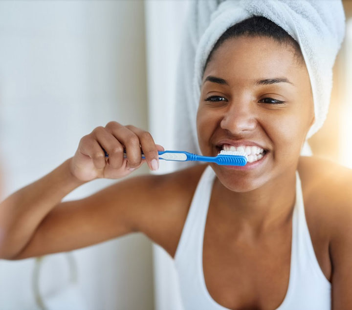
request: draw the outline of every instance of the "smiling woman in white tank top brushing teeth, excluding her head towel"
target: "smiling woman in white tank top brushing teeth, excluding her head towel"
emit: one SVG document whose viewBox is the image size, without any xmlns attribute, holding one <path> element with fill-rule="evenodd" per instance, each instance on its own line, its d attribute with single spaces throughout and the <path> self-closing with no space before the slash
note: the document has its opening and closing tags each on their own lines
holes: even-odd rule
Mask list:
<svg viewBox="0 0 352 310">
<path fill-rule="evenodd" d="M 158 168 L 163 147 L 148 132 L 110 122 L 1 204 L 1 258 L 140 231 L 175 258 L 186 309 L 350 310 L 352 171 L 300 156 L 313 121 L 298 44 L 264 18 L 242 21 L 208 58 L 197 130 L 204 155 L 242 146 L 251 163 L 129 178 L 62 203 L 96 178 L 120 179 L 144 162 Z"/>
</svg>

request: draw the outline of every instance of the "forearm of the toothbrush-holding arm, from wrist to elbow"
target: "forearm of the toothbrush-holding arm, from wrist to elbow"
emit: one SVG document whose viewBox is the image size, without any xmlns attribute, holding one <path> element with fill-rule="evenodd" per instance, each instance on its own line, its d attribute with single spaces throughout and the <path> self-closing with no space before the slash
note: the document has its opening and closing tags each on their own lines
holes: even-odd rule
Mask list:
<svg viewBox="0 0 352 310">
<path fill-rule="evenodd" d="M 71 174 L 70 160 L 0 204 L 0 258 L 18 254 L 50 210 L 85 183 Z"/>
</svg>

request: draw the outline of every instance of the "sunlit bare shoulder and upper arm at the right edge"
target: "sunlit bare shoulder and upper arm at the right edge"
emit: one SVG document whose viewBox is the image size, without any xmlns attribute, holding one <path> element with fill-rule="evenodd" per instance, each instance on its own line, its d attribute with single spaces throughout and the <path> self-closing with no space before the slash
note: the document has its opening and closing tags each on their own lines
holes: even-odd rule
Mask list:
<svg viewBox="0 0 352 310">
<path fill-rule="evenodd" d="M 352 286 L 352 169 L 318 157 L 301 157 L 298 171 L 306 214 L 320 235 L 329 238 L 334 308 Z M 351 309 L 351 308 L 338 308 Z"/>
</svg>

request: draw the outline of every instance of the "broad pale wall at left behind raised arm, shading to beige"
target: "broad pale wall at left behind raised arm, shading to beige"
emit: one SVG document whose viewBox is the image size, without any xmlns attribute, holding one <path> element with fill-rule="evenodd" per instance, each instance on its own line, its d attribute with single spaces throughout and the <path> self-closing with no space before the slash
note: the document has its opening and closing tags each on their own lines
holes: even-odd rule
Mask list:
<svg viewBox="0 0 352 310">
<path fill-rule="evenodd" d="M 0 1 L 0 42 L 4 195 L 71 157 L 98 125 L 116 120 L 147 128 L 142 1 Z M 66 199 L 110 183 L 93 181 Z M 72 309 L 74 302 L 75 310 L 154 308 L 152 247 L 144 236 L 73 256 L 78 284 L 71 287 L 65 254 L 44 260 L 40 287 L 49 309 Z M 38 309 L 33 267 L 34 259 L 0 261 L 0 309 Z M 71 295 L 58 295 L 65 287 Z"/>
</svg>

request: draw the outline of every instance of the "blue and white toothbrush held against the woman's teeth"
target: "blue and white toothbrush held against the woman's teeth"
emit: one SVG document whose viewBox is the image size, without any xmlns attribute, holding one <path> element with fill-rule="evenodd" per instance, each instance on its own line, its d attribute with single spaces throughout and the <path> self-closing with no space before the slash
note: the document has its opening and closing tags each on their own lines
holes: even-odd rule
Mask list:
<svg viewBox="0 0 352 310">
<path fill-rule="evenodd" d="M 105 157 L 109 157 L 108 153 L 103 148 Z M 124 151 L 126 152 L 126 150 Z M 202 156 L 184 151 L 158 151 L 159 159 L 166 161 L 176 161 L 176 162 L 206 162 L 206 163 L 216 163 L 218 165 L 233 165 L 233 166 L 244 166 L 247 164 L 247 154 L 245 152 L 232 152 L 221 150 L 218 156 Z M 144 154 L 142 154 L 142 158 Z"/>
</svg>

